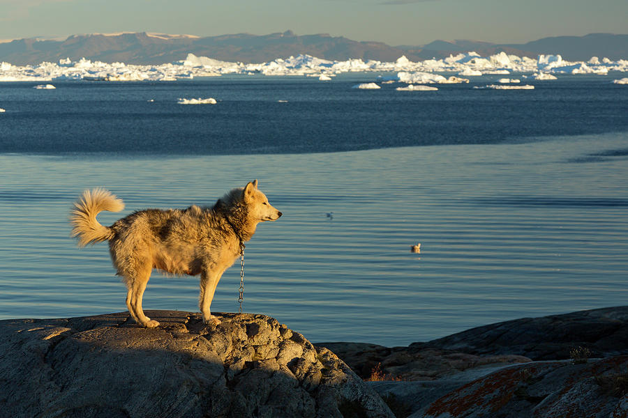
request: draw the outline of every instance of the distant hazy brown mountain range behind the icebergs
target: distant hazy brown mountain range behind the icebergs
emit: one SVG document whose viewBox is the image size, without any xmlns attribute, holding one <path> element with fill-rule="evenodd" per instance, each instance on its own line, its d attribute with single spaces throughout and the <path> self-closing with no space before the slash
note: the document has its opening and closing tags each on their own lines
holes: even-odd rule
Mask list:
<svg viewBox="0 0 628 418">
<path fill-rule="evenodd" d="M 188 53 L 220 61 L 262 63 L 277 58 L 309 54 L 321 59 L 350 58 L 395 61 L 405 55 L 410 61 L 444 58 L 449 54 L 475 51 L 481 55 L 506 52 L 536 58 L 539 54 L 561 54 L 569 61 L 586 61 L 591 56 L 613 61 L 628 59 L 628 35 L 591 33 L 586 36 L 542 38 L 525 44 L 495 44 L 473 40 L 435 40 L 427 45 L 392 47 L 383 42 L 359 42 L 327 34 L 298 36 L 292 31 L 256 36 L 248 33 L 198 37 L 160 33 L 73 35 L 66 40 L 40 38 L 0 43 L 0 61 L 14 65 L 38 64 L 81 58 L 107 63 L 160 64 L 179 61 Z"/>
</svg>

